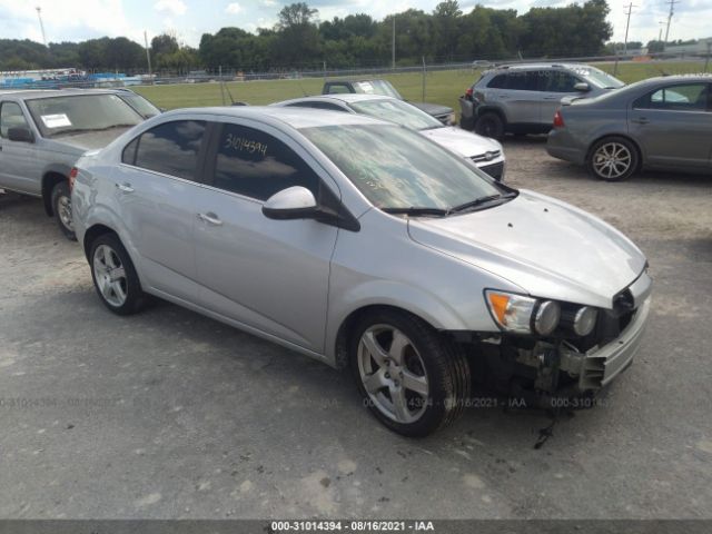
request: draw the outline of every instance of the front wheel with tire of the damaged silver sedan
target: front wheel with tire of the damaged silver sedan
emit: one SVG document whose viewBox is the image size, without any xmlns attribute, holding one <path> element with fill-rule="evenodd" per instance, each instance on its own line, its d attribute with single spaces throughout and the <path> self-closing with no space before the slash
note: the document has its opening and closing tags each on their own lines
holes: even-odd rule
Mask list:
<svg viewBox="0 0 712 534">
<path fill-rule="evenodd" d="M 367 315 L 354 329 L 349 357 L 364 403 L 404 436 L 426 436 L 448 425 L 469 397 L 462 349 L 413 315 Z"/>
</svg>

